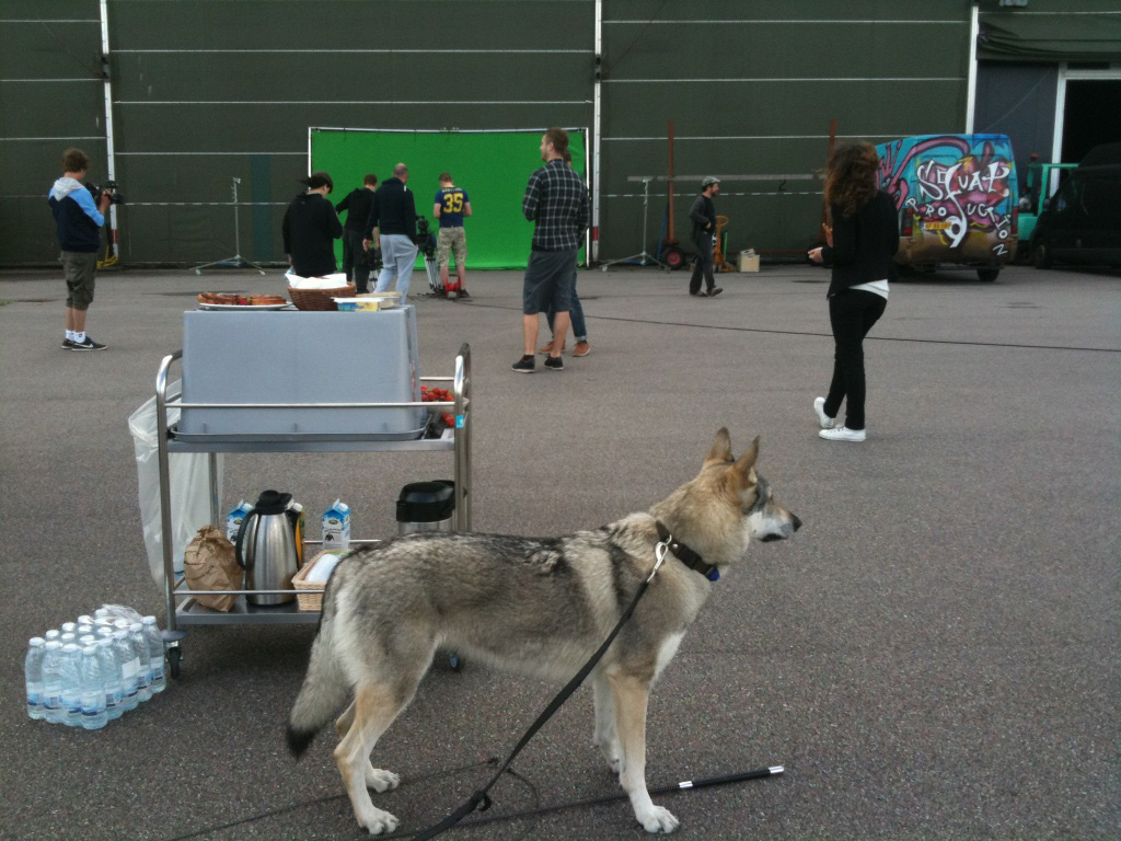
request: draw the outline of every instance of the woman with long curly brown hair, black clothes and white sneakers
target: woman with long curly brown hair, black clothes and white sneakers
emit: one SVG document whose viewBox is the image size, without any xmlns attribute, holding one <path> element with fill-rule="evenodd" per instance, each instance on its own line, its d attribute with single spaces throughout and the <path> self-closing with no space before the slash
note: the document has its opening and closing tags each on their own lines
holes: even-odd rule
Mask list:
<svg viewBox="0 0 1121 841">
<path fill-rule="evenodd" d="M 880 159 L 869 144 L 843 146 L 830 158 L 825 204 L 832 228 L 825 244 L 808 257 L 833 269 L 827 298 L 836 351 L 827 397 L 814 412 L 827 441 L 864 441 L 864 336 L 888 305 L 888 280 L 896 279 L 892 257 L 899 248 L 895 202 L 877 188 Z M 845 401 L 844 424 L 836 425 Z"/>
</svg>

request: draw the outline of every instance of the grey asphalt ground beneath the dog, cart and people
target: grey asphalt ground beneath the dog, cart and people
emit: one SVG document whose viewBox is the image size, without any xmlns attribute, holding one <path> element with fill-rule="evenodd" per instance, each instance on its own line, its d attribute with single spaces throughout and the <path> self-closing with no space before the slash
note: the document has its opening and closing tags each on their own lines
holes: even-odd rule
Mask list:
<svg viewBox="0 0 1121 841">
<path fill-rule="evenodd" d="M 865 343 L 868 442 L 816 435 L 832 366 L 826 274 L 583 272 L 592 353 L 517 376 L 518 272 L 471 302 L 419 302 L 421 372 L 474 363 L 474 527 L 554 535 L 648 508 L 716 429 L 805 523 L 713 589 L 656 686 L 651 788 L 771 765 L 786 774 L 665 795 L 684 839 L 1113 839 L 1121 803 L 1118 612 L 1121 277 L 1007 269 L 892 287 Z M 415 279 L 419 290 L 423 279 Z M 180 680 L 99 732 L 30 721 L 28 637 L 131 604 L 156 613 L 127 418 L 151 396 L 200 290 L 279 292 L 278 270 L 105 271 L 91 335 L 64 352 L 59 271 L 0 275 L 0 835 L 358 839 L 325 732 L 282 728 L 314 626 L 192 627 Z M 215 317 L 222 317 L 215 314 Z M 355 315 L 354 317 L 362 317 Z M 378 364 L 355 348 L 334 372 Z M 231 360 L 231 376 L 237 376 Z M 393 533 L 408 481 L 446 454 L 229 455 L 223 508 L 279 488 L 313 524 L 336 497 L 356 537 Z M 416 831 L 489 776 L 554 687 L 442 658 L 378 745 L 402 786 L 374 802 Z M 591 746 L 580 691 L 454 839 L 639 839 Z M 467 822 L 480 816 L 467 819 Z"/>
</svg>

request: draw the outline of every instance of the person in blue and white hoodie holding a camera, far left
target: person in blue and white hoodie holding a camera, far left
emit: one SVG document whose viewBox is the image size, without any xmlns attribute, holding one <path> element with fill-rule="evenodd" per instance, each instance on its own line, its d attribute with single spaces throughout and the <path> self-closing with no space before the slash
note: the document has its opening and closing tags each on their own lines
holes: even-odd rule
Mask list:
<svg viewBox="0 0 1121 841">
<path fill-rule="evenodd" d="M 94 204 L 82 179 L 90 156 L 81 149 L 63 153 L 63 177 L 50 188 L 47 202 L 58 230 L 58 259 L 66 271 L 66 338 L 63 350 L 105 350 L 85 334 L 85 312 L 93 303 L 93 277 L 101 250 L 101 225 L 105 222 L 110 194 L 103 191 Z"/>
</svg>

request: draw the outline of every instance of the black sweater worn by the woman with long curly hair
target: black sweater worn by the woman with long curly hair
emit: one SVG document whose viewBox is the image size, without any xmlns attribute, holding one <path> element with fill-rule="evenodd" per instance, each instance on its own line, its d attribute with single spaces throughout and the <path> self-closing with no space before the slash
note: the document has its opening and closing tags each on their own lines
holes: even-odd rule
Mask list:
<svg viewBox="0 0 1121 841">
<path fill-rule="evenodd" d="M 831 211 L 833 244 L 822 249 L 822 260 L 833 267 L 827 297 L 872 280 L 895 280 L 899 214 L 891 196 L 879 191 L 847 219 L 837 205 Z"/>
</svg>

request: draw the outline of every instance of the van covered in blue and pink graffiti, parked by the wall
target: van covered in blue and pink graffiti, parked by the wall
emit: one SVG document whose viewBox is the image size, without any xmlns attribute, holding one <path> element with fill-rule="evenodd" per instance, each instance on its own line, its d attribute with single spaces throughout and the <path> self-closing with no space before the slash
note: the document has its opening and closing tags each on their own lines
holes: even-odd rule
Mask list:
<svg viewBox="0 0 1121 841">
<path fill-rule="evenodd" d="M 880 188 L 899 211 L 901 266 L 944 264 L 995 280 L 1016 253 L 1016 160 L 1004 135 L 926 135 L 880 144 Z"/>
</svg>

